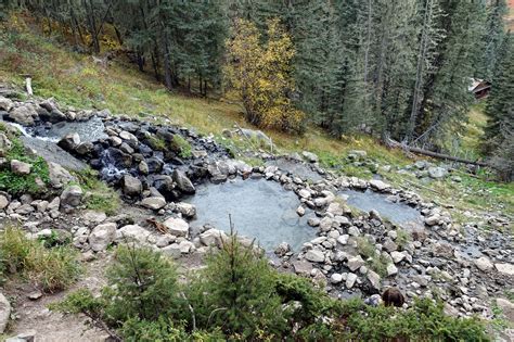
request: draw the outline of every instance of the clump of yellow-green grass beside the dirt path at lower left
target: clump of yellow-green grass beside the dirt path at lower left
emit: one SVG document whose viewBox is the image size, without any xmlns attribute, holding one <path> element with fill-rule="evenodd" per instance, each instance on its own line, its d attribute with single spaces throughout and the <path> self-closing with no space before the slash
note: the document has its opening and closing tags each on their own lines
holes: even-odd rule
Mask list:
<svg viewBox="0 0 514 342">
<path fill-rule="evenodd" d="M 44 242 L 30 240 L 20 228 L 7 226 L 0 233 L 2 270 L 20 274 L 47 292 L 63 290 L 81 274 L 78 252 L 70 246 L 48 249 Z"/>
</svg>

